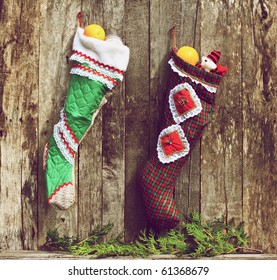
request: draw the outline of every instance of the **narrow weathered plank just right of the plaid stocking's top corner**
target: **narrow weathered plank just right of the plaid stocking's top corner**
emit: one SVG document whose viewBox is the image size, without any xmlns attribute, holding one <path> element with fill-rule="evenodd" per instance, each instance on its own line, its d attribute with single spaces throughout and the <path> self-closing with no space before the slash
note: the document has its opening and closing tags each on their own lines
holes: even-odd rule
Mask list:
<svg viewBox="0 0 277 280">
<path fill-rule="evenodd" d="M 241 101 L 241 5 L 227 1 L 222 15 L 222 59 L 219 63 L 228 66 L 227 76 L 219 89 L 222 93 L 224 123 L 224 189 L 226 196 L 226 220 L 242 220 L 242 101 Z M 220 33 L 219 33 L 220 34 Z M 229 51 L 232 49 L 232 51 Z"/>
</svg>

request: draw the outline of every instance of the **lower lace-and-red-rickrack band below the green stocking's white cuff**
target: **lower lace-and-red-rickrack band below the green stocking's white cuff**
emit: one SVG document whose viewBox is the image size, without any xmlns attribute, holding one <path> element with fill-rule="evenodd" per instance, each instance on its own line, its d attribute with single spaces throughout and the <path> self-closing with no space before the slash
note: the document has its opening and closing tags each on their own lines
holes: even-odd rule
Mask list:
<svg viewBox="0 0 277 280">
<path fill-rule="evenodd" d="M 87 77 L 90 80 L 101 82 L 102 84 L 105 84 L 109 89 L 112 89 L 117 84 L 117 81 L 115 79 L 112 79 L 88 67 L 78 64 L 73 66 L 70 74 Z"/>
</svg>

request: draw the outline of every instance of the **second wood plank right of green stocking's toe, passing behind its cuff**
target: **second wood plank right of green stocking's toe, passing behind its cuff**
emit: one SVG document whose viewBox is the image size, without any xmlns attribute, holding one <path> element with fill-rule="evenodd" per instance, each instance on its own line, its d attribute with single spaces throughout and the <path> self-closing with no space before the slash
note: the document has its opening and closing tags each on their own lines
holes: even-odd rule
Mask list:
<svg viewBox="0 0 277 280">
<path fill-rule="evenodd" d="M 124 38 L 124 0 L 103 2 L 107 34 Z M 128 71 L 128 70 L 127 70 Z M 124 232 L 125 206 L 125 79 L 103 108 L 103 223 L 113 223 L 109 237 Z"/>
</svg>

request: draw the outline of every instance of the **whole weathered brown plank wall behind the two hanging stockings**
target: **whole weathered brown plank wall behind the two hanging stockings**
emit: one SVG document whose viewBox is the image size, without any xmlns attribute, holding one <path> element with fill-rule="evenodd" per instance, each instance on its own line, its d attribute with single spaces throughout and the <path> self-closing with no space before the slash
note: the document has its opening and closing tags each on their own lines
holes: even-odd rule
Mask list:
<svg viewBox="0 0 277 280">
<path fill-rule="evenodd" d="M 76 15 L 123 37 L 124 83 L 76 159 L 77 202 L 48 207 L 42 153 L 66 96 Z M 244 220 L 251 245 L 277 253 L 276 1 L 0 0 L 0 249 L 37 249 L 48 229 L 86 236 L 147 225 L 137 172 L 155 150 L 170 51 L 222 52 L 217 110 L 178 179 L 182 213 Z M 102 139 L 102 140 L 101 140 Z"/>
</svg>

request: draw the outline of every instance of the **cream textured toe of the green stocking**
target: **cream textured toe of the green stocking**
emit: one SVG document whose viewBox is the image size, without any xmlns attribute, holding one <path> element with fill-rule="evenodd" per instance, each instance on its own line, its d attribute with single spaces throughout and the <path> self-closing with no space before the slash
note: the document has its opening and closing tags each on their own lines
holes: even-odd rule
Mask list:
<svg viewBox="0 0 277 280">
<path fill-rule="evenodd" d="M 49 203 L 61 210 L 68 209 L 75 201 L 75 188 L 72 184 L 62 187 L 49 200 Z"/>
</svg>

